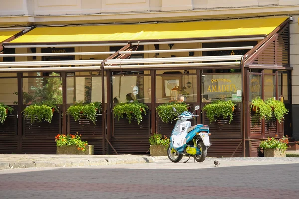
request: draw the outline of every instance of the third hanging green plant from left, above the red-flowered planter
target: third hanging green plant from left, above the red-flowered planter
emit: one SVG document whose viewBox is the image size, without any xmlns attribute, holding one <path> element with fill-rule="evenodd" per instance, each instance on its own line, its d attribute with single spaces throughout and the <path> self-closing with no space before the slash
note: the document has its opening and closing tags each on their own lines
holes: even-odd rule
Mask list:
<svg viewBox="0 0 299 199">
<path fill-rule="evenodd" d="M 76 103 L 70 106 L 66 113 L 71 115 L 75 121 L 80 119 L 82 116 L 86 116 L 86 118 L 93 123 L 97 120 L 97 113 L 102 111 L 102 103 L 94 102 L 89 104 L 84 103 Z"/>
</svg>

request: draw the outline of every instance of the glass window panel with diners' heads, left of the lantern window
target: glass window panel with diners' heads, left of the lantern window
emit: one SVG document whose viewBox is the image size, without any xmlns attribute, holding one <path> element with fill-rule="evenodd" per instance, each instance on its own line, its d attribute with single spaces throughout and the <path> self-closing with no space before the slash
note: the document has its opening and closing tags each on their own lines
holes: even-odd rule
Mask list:
<svg viewBox="0 0 299 199">
<path fill-rule="evenodd" d="M 112 76 L 113 103 L 151 102 L 151 76 Z"/>
</svg>

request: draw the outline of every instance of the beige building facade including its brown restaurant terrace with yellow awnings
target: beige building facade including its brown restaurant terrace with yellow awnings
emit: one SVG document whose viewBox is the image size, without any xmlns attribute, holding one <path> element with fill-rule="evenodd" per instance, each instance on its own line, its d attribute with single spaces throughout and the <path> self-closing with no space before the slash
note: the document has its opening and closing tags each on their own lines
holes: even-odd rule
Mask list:
<svg viewBox="0 0 299 199">
<path fill-rule="evenodd" d="M 98 154 L 106 145 L 111 153 L 146 153 L 151 133 L 170 135 L 173 128 L 155 111 L 169 102 L 170 84 L 186 88 L 191 108 L 236 94 L 238 108 L 230 125 L 209 124 L 205 113 L 194 121 L 211 126 L 211 156 L 257 156 L 260 141 L 268 136 L 299 141 L 298 11 L 299 0 L 1 0 L 0 51 L 21 54 L 0 56 L 2 63 L 15 62 L 1 66 L 0 102 L 17 110 L 0 131 L 1 151 L 54 153 L 56 134 L 77 131 Z M 215 49 L 203 50 L 208 48 Z M 22 55 L 33 53 L 37 56 Z M 64 68 L 45 69 L 55 66 Z M 60 112 L 51 125 L 31 124 L 19 116 L 32 101 L 24 93 L 34 93 L 32 88 L 53 78 L 52 72 L 62 82 Z M 134 88 L 149 114 L 130 126 L 114 119 L 111 108 L 115 97 L 125 102 Z M 290 111 L 285 122 L 255 123 L 249 110 L 253 96 L 283 96 Z M 78 101 L 105 101 L 96 125 L 65 114 Z"/>
</svg>

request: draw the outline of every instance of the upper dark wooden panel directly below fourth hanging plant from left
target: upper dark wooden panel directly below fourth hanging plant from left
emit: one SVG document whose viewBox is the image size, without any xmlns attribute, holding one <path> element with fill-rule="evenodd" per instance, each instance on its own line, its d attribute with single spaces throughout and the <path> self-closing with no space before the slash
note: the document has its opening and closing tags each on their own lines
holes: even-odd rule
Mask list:
<svg viewBox="0 0 299 199">
<path fill-rule="evenodd" d="M 143 114 L 143 120 L 138 124 L 136 119 L 133 119 L 129 124 L 128 120 L 124 118 L 114 119 L 114 137 L 149 137 L 150 133 L 150 114 Z"/>
</svg>

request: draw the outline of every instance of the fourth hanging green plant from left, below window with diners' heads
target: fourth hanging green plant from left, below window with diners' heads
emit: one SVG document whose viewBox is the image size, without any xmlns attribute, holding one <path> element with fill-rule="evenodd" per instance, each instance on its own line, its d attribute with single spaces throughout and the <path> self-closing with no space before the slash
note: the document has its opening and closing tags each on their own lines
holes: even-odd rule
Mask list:
<svg viewBox="0 0 299 199">
<path fill-rule="evenodd" d="M 138 124 L 142 121 L 142 113 L 146 113 L 149 107 L 144 103 L 139 103 L 137 100 L 132 103 L 118 103 L 112 109 L 114 117 L 117 117 L 118 120 L 124 117 L 126 114 L 126 118 L 131 123 L 132 119 L 136 119 Z"/>
</svg>

